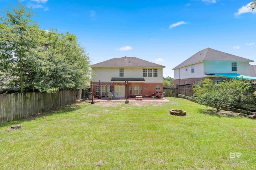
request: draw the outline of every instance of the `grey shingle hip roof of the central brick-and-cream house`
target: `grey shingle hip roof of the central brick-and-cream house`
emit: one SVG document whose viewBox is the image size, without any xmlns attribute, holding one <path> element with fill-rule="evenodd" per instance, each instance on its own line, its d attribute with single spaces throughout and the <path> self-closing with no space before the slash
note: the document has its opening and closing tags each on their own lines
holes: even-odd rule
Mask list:
<svg viewBox="0 0 256 170">
<path fill-rule="evenodd" d="M 162 67 L 165 66 L 151 63 L 136 57 L 114 58 L 101 63 L 93 64 L 92 67 Z"/>
</svg>

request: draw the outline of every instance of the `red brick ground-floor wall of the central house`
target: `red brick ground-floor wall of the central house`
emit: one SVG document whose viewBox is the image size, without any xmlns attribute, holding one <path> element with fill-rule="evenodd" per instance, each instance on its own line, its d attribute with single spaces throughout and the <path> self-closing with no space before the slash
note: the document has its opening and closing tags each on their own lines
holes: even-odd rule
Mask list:
<svg viewBox="0 0 256 170">
<path fill-rule="evenodd" d="M 105 82 L 97 82 L 97 83 L 93 83 L 93 94 L 94 94 L 94 98 L 98 98 L 98 96 L 96 96 L 96 86 L 110 86 L 110 83 L 105 83 Z M 126 85 L 125 83 L 112 83 L 112 91 L 114 91 L 115 89 L 115 85 L 118 86 L 125 86 L 125 90 L 127 90 L 127 94 L 128 94 L 128 98 L 135 98 L 135 96 L 142 96 L 143 98 L 149 97 L 149 96 L 145 96 L 145 95 L 152 95 L 152 93 L 156 93 L 156 86 L 160 86 L 160 91 L 157 92 L 163 92 L 163 83 L 129 83 L 127 84 L 127 89 L 126 89 Z M 132 94 L 129 94 L 129 86 L 132 86 Z M 138 95 L 134 95 L 134 86 L 139 86 L 139 94 Z M 141 86 L 142 86 L 142 93 L 141 93 Z M 126 92 L 125 92 L 125 96 L 126 96 Z"/>
</svg>

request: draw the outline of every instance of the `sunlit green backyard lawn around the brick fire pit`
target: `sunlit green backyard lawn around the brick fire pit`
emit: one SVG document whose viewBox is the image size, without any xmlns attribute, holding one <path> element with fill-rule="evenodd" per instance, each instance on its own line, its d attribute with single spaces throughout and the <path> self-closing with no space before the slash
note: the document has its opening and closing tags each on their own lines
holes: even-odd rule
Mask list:
<svg viewBox="0 0 256 170">
<path fill-rule="evenodd" d="M 0 169 L 255 169 L 255 120 L 168 99 L 159 106 L 76 103 L 0 124 Z"/>
</svg>

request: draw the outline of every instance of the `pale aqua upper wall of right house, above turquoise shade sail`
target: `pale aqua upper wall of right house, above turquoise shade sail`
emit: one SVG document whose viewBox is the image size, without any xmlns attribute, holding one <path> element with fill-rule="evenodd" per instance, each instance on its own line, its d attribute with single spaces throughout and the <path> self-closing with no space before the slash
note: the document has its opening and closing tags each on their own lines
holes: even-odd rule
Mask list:
<svg viewBox="0 0 256 170">
<path fill-rule="evenodd" d="M 250 75 L 250 67 L 248 61 L 204 61 L 204 73 L 232 73 L 231 63 L 236 62 L 238 74 L 245 76 Z"/>
</svg>

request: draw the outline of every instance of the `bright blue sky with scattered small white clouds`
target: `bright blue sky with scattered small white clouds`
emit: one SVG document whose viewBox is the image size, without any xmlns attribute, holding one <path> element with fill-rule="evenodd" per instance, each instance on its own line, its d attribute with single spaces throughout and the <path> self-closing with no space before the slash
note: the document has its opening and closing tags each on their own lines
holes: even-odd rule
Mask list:
<svg viewBox="0 0 256 170">
<path fill-rule="evenodd" d="M 216 49 L 256 61 L 251 0 L 20 0 L 41 29 L 76 34 L 92 64 L 137 57 L 166 66 L 164 76 L 198 51 Z M 16 0 L 0 0 L 3 12 Z M 256 65 L 256 62 L 250 63 Z"/>
</svg>

